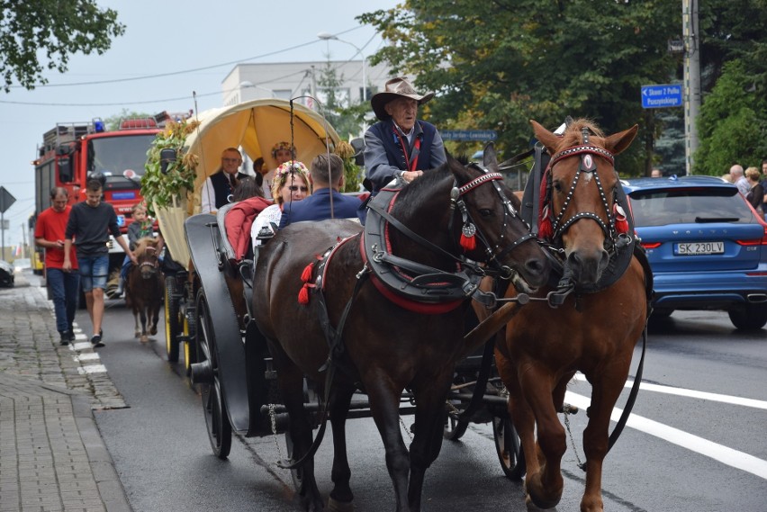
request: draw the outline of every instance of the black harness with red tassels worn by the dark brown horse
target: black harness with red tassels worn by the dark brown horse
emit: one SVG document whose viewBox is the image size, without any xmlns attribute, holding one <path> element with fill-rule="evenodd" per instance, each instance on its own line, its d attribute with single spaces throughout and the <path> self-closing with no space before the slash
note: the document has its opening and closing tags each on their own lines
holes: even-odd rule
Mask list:
<svg viewBox="0 0 767 512">
<path fill-rule="evenodd" d="M 366 277 L 369 277 L 376 289 L 390 301 L 397 303 L 405 309 L 416 310 L 421 313 L 440 314 L 454 310 L 465 299 L 472 296 L 474 296 L 474 299 L 485 304 L 495 303 L 495 295 L 493 293 L 481 292 L 479 290 L 479 282 L 485 275 L 499 275 L 508 278 L 512 271 L 505 265 L 500 265 L 498 258 L 514 247 L 518 247 L 523 242 L 535 238 L 535 236 L 528 232 L 515 240 L 509 247 L 501 248 L 500 244 L 496 244 L 494 247 L 491 246 L 487 238 L 483 236 L 483 233 L 476 229 L 474 221 L 471 219 L 471 214 L 461 197 L 465 193 L 473 191 L 476 187 L 489 183 L 494 186 L 503 202 L 503 227 L 506 226 L 508 216 L 512 218 L 519 217 L 519 213 L 513 207 L 509 198 L 503 193 L 501 186 L 495 183 L 498 180 L 502 180 L 503 175 L 500 173 L 490 173 L 486 168 L 476 164 L 472 164 L 472 166 L 482 170 L 483 175 L 474 178 L 474 180 L 460 187 L 457 186 L 457 183 L 454 183 L 450 191 L 450 210 L 455 211 L 457 207 L 461 214 L 461 220 L 464 223 L 461 229 L 461 245 L 464 246 L 465 238 L 479 238 L 485 247 L 485 254 L 488 256 L 486 263 L 491 264 L 493 266 L 492 269 L 483 268 L 465 258 L 465 256 L 453 255 L 442 247 L 429 242 L 426 238 L 422 238 L 402 224 L 400 220 L 394 218 L 389 211 L 391 211 L 393 203 L 400 192 L 399 188 L 384 188 L 374 197 L 373 201 L 368 202 L 370 212 L 368 213 L 363 233 L 339 240 L 335 246 L 330 247 L 322 256 L 316 256 L 316 261 L 311 262 L 304 268 L 301 275 L 304 284 L 302 291 L 299 293 L 299 302 L 304 305 L 308 304 L 309 290 L 311 289 L 315 292 L 318 297 L 320 327 L 325 334 L 329 346 L 328 360 L 320 367 L 320 372 L 326 371 L 325 405 L 322 410 L 320 430 L 317 436 L 314 437 L 314 441 L 307 453 L 298 461 L 278 463 L 281 468 L 294 469 L 300 467 L 308 458 L 316 453 L 322 442 L 328 418 L 329 391 L 335 370 L 340 368 L 347 373 L 351 372 L 351 369 L 347 368 L 341 361 L 344 353 L 344 345 L 341 338 L 348 313 Z M 453 227 L 452 222 L 453 216 L 451 216 L 448 226 L 450 231 L 452 231 Z M 525 224 L 528 225 L 527 223 Z M 394 256 L 391 253 L 391 244 L 388 239 L 389 226 L 399 230 L 403 235 L 411 238 L 420 246 L 456 261 L 456 272 L 445 272 L 429 265 L 422 265 Z M 364 263 L 362 269 L 356 274 L 354 291 L 351 297 L 349 297 L 340 319 L 338 319 L 338 326 L 334 328 L 329 319 L 327 303 L 323 293 L 325 274 L 327 273 L 330 260 L 337 254 L 338 249 L 355 237 L 359 237 L 360 256 L 362 256 Z M 313 283 L 311 279 L 312 274 L 316 275 Z"/>
</svg>

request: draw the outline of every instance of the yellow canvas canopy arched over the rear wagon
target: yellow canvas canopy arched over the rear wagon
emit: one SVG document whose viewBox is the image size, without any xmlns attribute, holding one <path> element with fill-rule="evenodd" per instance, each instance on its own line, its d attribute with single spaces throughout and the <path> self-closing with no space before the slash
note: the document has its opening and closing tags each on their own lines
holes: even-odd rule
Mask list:
<svg viewBox="0 0 767 512">
<path fill-rule="evenodd" d="M 200 112 L 195 116 L 200 126 L 186 138 L 185 153 L 200 158 L 195 169 L 194 199 L 186 211 L 158 211 L 158 221 L 167 247 L 177 263 L 186 266 L 189 251 L 184 235 L 184 220 L 200 212 L 200 191 L 208 176 L 219 172 L 221 152 L 226 148 L 241 148 L 252 160 L 264 158 L 266 169 L 276 167 L 272 147 L 280 141 L 290 142 L 296 149 L 296 160 L 308 167 L 311 160 L 338 144 L 338 133 L 322 116 L 299 103 L 291 104 L 276 98 L 253 100 L 229 107 Z M 291 136 L 293 134 L 293 136 Z M 246 169 L 242 169 L 246 171 Z M 252 169 L 247 169 L 252 174 Z"/>
</svg>

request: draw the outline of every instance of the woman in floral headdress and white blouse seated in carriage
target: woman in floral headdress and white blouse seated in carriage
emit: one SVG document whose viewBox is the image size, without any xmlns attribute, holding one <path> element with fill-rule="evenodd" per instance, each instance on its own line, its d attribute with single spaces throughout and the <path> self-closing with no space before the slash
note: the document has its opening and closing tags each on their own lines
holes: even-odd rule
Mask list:
<svg viewBox="0 0 767 512">
<path fill-rule="evenodd" d="M 302 201 L 310 193 L 309 169 L 301 162 L 291 160 L 276 168 L 272 183 L 272 197 L 275 198 L 275 203 L 258 214 L 250 229 L 254 251 L 262 243 L 262 240 L 258 239 L 259 235 L 266 239 L 275 235 L 285 203 Z"/>
</svg>

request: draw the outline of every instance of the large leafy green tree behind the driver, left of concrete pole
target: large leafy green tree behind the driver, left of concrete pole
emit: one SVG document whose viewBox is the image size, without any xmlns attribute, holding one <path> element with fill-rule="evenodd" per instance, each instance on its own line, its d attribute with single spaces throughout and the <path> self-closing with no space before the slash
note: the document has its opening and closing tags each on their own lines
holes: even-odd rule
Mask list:
<svg viewBox="0 0 767 512">
<path fill-rule="evenodd" d="M 376 53 L 438 91 L 424 115 L 440 127 L 493 129 L 508 154 L 527 148 L 529 120 L 558 126 L 589 117 L 607 132 L 644 124 L 641 85 L 677 67 L 666 41 L 681 27 L 672 2 L 407 0 L 366 13 L 393 44 Z M 640 134 L 640 139 L 644 137 Z M 644 174 L 639 144 L 621 168 Z"/>
</svg>

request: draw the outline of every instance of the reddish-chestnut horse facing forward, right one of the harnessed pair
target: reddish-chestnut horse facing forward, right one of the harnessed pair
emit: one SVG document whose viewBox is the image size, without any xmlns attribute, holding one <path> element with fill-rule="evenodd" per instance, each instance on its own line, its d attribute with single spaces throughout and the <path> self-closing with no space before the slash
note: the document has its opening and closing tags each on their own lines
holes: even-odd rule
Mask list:
<svg viewBox="0 0 767 512">
<path fill-rule="evenodd" d="M 528 501 L 538 508 L 553 508 L 562 498 L 566 439 L 556 414 L 563 408 L 567 382 L 578 371 L 591 382 L 581 510 L 593 512 L 603 508 L 601 472 L 609 450 L 610 413 L 642 337 L 652 287 L 652 276 L 637 257 L 644 255 L 634 250 L 613 163 L 637 127 L 605 137 L 591 122 L 578 120 L 560 137 L 532 124 L 552 156 L 540 190 L 538 236 L 548 238 L 562 264 L 542 292 L 566 299 L 557 309 L 546 301 L 520 307 L 507 325 L 505 342 L 496 346 L 496 363 L 527 454 Z"/>
</svg>

